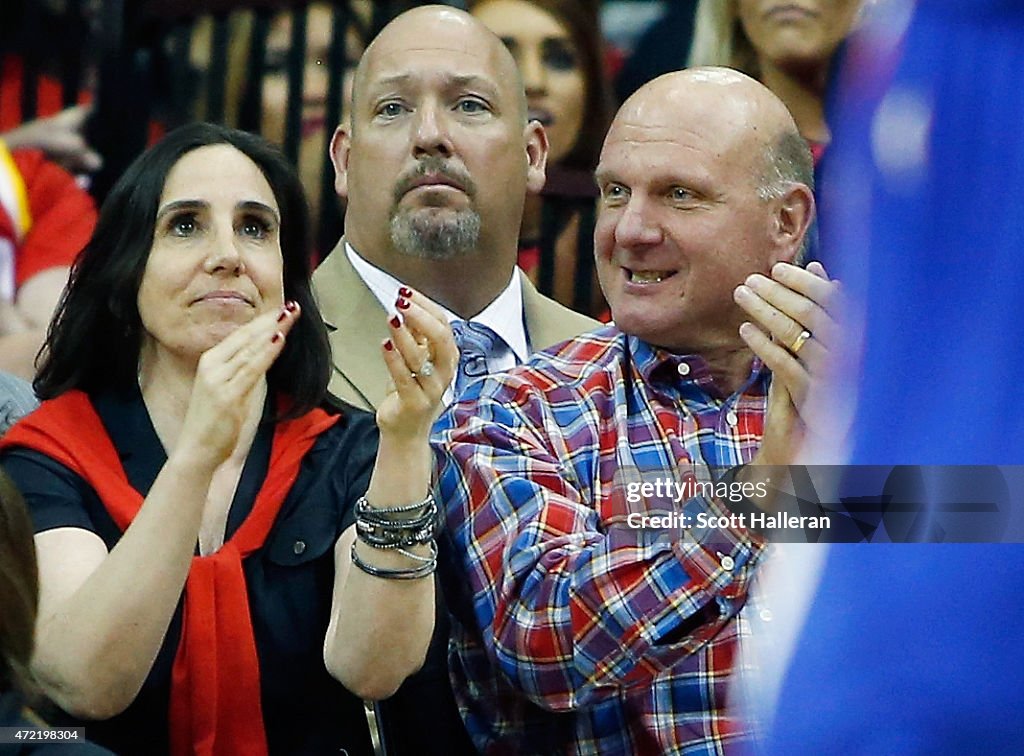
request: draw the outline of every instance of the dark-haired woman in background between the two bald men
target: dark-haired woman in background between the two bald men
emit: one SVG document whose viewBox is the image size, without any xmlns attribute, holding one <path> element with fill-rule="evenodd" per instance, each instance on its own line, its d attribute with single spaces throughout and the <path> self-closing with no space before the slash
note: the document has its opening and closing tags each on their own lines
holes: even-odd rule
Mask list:
<svg viewBox="0 0 1024 756">
<path fill-rule="evenodd" d="M 592 255 L 592 213 L 590 222 L 582 221 L 597 199 L 593 172 L 611 114 L 597 3 L 476 0 L 469 9 L 511 51 L 526 89 L 528 118 L 544 125 L 550 145 L 544 193 L 527 197 L 523 209 L 519 264 L 537 282 L 542 237 L 551 236 L 555 299 L 597 312 L 599 296 L 575 295 L 579 261 Z"/>
</svg>

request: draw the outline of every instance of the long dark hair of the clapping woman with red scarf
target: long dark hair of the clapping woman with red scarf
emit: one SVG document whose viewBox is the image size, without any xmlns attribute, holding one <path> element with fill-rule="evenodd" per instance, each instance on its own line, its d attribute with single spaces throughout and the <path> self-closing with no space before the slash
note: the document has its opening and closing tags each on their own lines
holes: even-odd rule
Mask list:
<svg viewBox="0 0 1024 756">
<path fill-rule="evenodd" d="M 172 131 L 128 167 L 99 211 L 92 239 L 72 268 L 50 324 L 33 387 L 40 398 L 79 388 L 124 388 L 136 380 L 142 323 L 138 289 L 153 247 L 160 197 L 174 165 L 209 144 L 230 144 L 262 171 L 281 210 L 286 300 L 302 307 L 285 348 L 267 374 L 293 404 L 287 416 L 318 405 L 331 378 L 327 330 L 310 289 L 308 216 L 295 169 L 262 137 L 210 123 Z"/>
</svg>

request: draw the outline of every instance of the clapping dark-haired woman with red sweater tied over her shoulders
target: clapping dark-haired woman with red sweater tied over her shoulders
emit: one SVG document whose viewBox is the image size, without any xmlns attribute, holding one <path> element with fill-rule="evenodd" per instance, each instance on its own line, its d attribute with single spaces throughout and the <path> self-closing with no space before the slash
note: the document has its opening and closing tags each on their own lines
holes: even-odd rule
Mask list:
<svg viewBox="0 0 1024 756">
<path fill-rule="evenodd" d="M 372 753 L 360 699 L 432 628 L 427 437 L 457 362 L 437 308 L 401 295 L 378 452 L 372 416 L 326 404 L 305 202 L 276 149 L 184 126 L 112 191 L 44 402 L 2 444 L 37 531 L 33 669 L 94 740 Z"/>
</svg>

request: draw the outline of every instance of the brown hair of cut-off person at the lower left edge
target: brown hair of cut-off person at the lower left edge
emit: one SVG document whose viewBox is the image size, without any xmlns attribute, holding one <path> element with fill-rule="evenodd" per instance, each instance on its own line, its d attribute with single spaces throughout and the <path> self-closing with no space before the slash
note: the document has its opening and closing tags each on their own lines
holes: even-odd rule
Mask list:
<svg viewBox="0 0 1024 756">
<path fill-rule="evenodd" d="M 36 637 L 39 573 L 32 521 L 14 484 L 0 469 L 0 694 L 35 689 L 29 660 Z"/>
</svg>

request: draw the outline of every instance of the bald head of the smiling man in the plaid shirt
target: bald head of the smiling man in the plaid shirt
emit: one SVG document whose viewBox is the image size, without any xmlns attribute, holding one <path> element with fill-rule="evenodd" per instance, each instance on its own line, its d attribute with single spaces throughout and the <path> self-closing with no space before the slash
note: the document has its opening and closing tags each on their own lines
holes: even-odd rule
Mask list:
<svg viewBox="0 0 1024 756">
<path fill-rule="evenodd" d="M 810 151 L 788 111 L 729 69 L 662 76 L 623 104 L 597 168 L 594 254 L 624 333 L 699 352 L 730 386 L 745 380 L 739 328 L 751 316 L 736 288 L 797 259 L 814 216 L 803 176 L 769 191 L 774 156 L 791 143 L 809 181 Z"/>
</svg>

